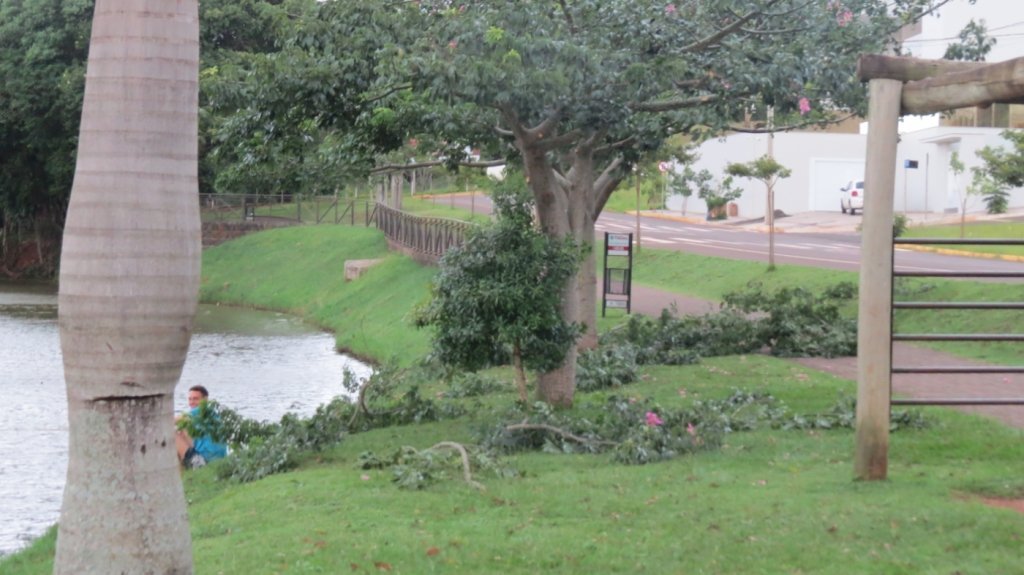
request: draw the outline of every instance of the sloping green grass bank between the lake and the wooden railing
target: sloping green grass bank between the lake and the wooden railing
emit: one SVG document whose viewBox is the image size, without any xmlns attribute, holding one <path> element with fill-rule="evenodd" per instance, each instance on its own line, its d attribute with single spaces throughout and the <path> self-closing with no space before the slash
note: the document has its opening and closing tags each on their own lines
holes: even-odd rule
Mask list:
<svg viewBox="0 0 1024 575">
<path fill-rule="evenodd" d="M 346 260 L 382 259 L 345 282 Z M 338 347 L 362 357 L 411 361 L 429 349 L 409 313 L 427 297 L 434 268 L 389 254 L 375 229 L 291 227 L 208 250 L 203 301 L 296 313 L 335 333 Z"/>
</svg>

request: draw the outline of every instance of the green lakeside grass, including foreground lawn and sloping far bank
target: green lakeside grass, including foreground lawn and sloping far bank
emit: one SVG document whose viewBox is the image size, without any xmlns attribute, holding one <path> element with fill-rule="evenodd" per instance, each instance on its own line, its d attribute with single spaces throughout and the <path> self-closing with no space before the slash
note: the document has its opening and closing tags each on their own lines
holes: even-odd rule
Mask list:
<svg viewBox="0 0 1024 575">
<path fill-rule="evenodd" d="M 426 336 L 402 318 L 432 271 L 385 256 L 368 276 L 341 281 L 344 259 L 378 256 L 383 240 L 371 230 L 256 234 L 206 254 L 204 298 L 304 313 L 358 353 L 411 359 Z M 618 393 L 671 406 L 733 388 L 767 390 L 807 412 L 853 384 L 749 356 L 651 367 Z M 582 395 L 579 408 L 605 395 Z M 507 405 L 511 394 L 486 401 Z M 968 493 L 1024 496 L 1024 437 L 929 413 L 933 428 L 893 436 L 890 481 L 869 484 L 851 481 L 852 432 L 766 430 L 734 434 L 721 452 L 646 467 L 520 455 L 525 477 L 480 477 L 485 492 L 453 480 L 411 493 L 387 472 L 356 470 L 358 454 L 470 441 L 474 419 L 378 430 L 253 484 L 186 474 L 197 573 L 1018 572 L 1021 517 Z M 48 573 L 52 548 L 50 535 L 0 562 L 0 572 Z"/>
</svg>

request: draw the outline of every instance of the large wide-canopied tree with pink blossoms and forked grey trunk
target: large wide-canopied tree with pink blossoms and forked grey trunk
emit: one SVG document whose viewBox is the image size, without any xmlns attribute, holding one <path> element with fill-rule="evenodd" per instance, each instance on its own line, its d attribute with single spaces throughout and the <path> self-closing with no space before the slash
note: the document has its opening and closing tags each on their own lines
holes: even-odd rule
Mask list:
<svg viewBox="0 0 1024 575">
<path fill-rule="evenodd" d="M 418 34 L 392 46 L 381 79 L 459 109 L 476 134 L 492 128 L 521 161 L 543 229 L 592 244 L 608 196 L 666 137 L 716 136 L 768 107 L 774 129 L 857 113 L 857 56 L 943 3 L 424 0 L 400 10 Z M 591 329 L 584 345 L 595 281 L 592 256 L 563 297 L 565 317 Z M 542 399 L 572 402 L 574 359 L 542 374 Z"/>
</svg>

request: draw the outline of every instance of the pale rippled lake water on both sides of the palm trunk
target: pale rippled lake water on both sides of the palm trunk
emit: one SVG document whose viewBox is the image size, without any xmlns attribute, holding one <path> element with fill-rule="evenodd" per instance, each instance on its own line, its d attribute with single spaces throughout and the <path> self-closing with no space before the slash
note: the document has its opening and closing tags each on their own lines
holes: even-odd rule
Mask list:
<svg viewBox="0 0 1024 575">
<path fill-rule="evenodd" d="M 308 415 L 339 395 L 344 370 L 370 368 L 335 352 L 334 337 L 286 314 L 200 306 L 175 391 L 190 386 L 241 414 Z M 56 522 L 68 467 L 68 406 L 52 286 L 0 282 L 0 555 Z"/>
</svg>

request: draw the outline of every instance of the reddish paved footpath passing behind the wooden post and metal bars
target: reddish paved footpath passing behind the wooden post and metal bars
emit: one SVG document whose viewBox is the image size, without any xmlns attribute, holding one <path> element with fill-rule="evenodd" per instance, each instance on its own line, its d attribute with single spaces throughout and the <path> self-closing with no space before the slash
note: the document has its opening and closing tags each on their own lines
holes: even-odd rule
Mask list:
<svg viewBox="0 0 1024 575">
<path fill-rule="evenodd" d="M 600 298 L 600 294 L 598 294 Z M 679 314 L 699 315 L 718 309 L 708 300 L 688 298 L 652 288 L 634 285 L 632 309 L 636 313 L 658 315 L 663 309 L 676 305 Z M 825 359 L 809 357 L 795 359 L 797 363 L 845 378 L 857 380 L 857 358 Z M 924 365 L 984 365 L 927 348 L 897 344 L 893 364 Z M 896 395 L 910 398 L 1024 398 L 1024 374 L 898 374 L 893 377 Z M 957 406 L 957 409 L 994 417 L 1009 426 L 1024 428 L 1024 405 Z"/>
</svg>

